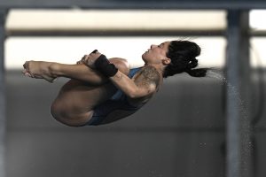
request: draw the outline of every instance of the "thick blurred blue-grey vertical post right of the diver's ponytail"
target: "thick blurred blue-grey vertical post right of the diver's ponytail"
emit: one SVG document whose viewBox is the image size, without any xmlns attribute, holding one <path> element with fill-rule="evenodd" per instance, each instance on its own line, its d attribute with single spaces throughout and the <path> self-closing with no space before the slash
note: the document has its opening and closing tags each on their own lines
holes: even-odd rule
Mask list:
<svg viewBox="0 0 266 177">
<path fill-rule="evenodd" d="M 249 12 L 229 10 L 227 31 L 227 177 L 254 177 L 250 119 Z"/>
</svg>

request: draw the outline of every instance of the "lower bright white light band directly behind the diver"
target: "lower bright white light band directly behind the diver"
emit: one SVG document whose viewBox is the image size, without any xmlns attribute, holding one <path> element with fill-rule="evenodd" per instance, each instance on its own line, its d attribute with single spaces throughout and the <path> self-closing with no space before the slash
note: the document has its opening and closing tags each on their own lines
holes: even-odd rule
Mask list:
<svg viewBox="0 0 266 177">
<path fill-rule="evenodd" d="M 55 61 L 74 64 L 84 54 L 98 49 L 108 58 L 126 58 L 129 64 L 143 65 L 142 54 L 151 44 L 182 37 L 11 37 L 5 42 L 5 68 L 22 69 L 26 60 Z M 223 37 L 187 38 L 202 48 L 200 66 L 224 65 Z"/>
</svg>

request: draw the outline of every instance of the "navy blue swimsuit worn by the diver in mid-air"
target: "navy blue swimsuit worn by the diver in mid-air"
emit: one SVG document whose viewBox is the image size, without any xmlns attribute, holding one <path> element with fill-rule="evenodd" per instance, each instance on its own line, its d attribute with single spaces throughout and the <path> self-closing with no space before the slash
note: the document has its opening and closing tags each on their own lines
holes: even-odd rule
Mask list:
<svg viewBox="0 0 266 177">
<path fill-rule="evenodd" d="M 129 78 L 132 79 L 133 76 L 140 70 L 141 68 L 130 69 Z M 115 111 L 115 110 L 123 110 L 123 111 L 133 111 L 137 112 L 137 110 L 142 107 L 141 106 L 133 106 L 129 104 L 127 96 L 121 91 L 121 89 L 117 89 L 114 95 L 108 99 L 105 103 L 99 104 L 93 110 L 93 115 L 90 121 L 87 123 L 89 126 L 97 126 L 101 124 L 101 122 L 106 118 L 106 116 Z"/>
</svg>

